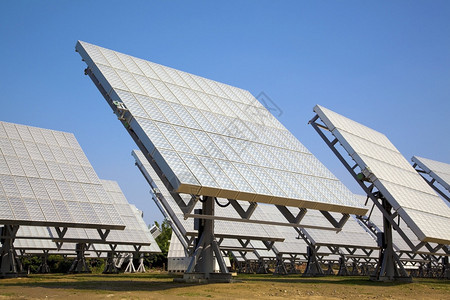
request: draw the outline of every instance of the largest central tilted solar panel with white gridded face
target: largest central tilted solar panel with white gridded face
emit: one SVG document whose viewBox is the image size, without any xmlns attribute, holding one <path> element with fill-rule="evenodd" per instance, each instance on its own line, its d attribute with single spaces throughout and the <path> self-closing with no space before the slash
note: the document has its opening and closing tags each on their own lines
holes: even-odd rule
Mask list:
<svg viewBox="0 0 450 300">
<path fill-rule="evenodd" d="M 174 191 L 364 213 L 248 91 L 81 41 L 76 50 Z"/>
</svg>

